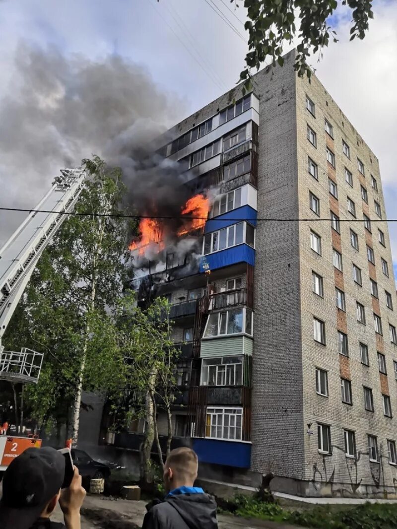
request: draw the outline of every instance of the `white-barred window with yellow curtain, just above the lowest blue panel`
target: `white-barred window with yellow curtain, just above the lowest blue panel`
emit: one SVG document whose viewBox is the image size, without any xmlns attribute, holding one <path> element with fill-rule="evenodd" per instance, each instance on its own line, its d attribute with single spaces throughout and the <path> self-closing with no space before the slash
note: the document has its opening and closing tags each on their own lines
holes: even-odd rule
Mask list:
<svg viewBox="0 0 397 529">
<path fill-rule="evenodd" d="M 242 408 L 207 408 L 205 437 L 241 440 Z"/>
</svg>

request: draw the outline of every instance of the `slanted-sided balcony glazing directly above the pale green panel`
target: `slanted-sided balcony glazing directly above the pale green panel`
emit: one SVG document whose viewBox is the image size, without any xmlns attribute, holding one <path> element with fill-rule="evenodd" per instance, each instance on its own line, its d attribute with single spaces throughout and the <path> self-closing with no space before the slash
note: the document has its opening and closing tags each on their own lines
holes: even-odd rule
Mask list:
<svg viewBox="0 0 397 529">
<path fill-rule="evenodd" d="M 213 312 L 208 317 L 204 338 L 244 332 L 252 336 L 252 324 L 252 311 L 248 308 L 234 308 L 227 311 Z"/>
</svg>

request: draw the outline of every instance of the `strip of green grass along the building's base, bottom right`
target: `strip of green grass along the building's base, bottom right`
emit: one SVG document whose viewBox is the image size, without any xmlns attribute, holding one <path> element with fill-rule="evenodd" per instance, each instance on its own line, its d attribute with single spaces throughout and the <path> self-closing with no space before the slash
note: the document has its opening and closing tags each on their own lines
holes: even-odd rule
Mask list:
<svg viewBox="0 0 397 529">
<path fill-rule="evenodd" d="M 255 498 L 238 495 L 231 502 L 229 512 L 247 518 L 321 529 L 395 529 L 397 505 L 370 504 L 347 507 L 317 505 L 303 510 L 286 510 L 277 503 L 265 503 Z"/>
</svg>

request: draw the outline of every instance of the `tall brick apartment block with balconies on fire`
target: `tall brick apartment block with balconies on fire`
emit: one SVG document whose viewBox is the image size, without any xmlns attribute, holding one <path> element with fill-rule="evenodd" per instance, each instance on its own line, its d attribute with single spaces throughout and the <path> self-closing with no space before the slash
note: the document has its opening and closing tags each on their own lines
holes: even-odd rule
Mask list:
<svg viewBox="0 0 397 529">
<path fill-rule="evenodd" d="M 378 160 L 294 59 L 169 131 L 164 155 L 191 169 L 194 192 L 217 192 L 200 259 L 169 256 L 138 303 L 173 304 L 174 442 L 193 446 L 202 476 L 395 494 L 397 299 Z M 143 427 L 113 442 L 137 448 Z"/>
</svg>

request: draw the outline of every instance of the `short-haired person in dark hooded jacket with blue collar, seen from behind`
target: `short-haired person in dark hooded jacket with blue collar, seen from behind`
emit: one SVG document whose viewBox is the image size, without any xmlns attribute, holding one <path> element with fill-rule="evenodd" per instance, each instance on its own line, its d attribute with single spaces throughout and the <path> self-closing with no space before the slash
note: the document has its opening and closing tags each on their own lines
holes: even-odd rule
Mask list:
<svg viewBox="0 0 397 529">
<path fill-rule="evenodd" d="M 170 451 L 164 465 L 167 495 L 147 505 L 142 529 L 218 529 L 216 503 L 200 487 L 197 454 L 184 446 Z"/>
</svg>

